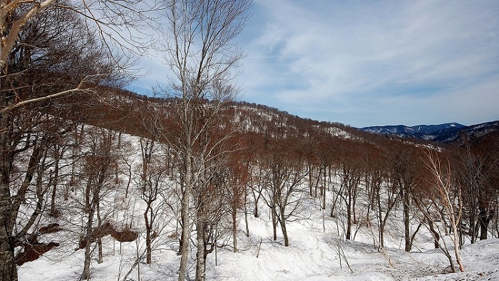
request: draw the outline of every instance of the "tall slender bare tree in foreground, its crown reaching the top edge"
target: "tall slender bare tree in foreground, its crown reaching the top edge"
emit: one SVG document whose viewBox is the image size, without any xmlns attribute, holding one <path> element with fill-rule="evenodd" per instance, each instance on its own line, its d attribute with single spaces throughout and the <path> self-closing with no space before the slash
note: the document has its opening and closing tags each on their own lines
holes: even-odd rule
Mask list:
<svg viewBox="0 0 499 281">
<path fill-rule="evenodd" d="M 222 106 L 237 93 L 230 86 L 231 73 L 242 58 L 234 43 L 247 19 L 251 1 L 168 2 L 167 64 L 173 71 L 171 94 L 178 98 L 176 151 L 182 183 L 182 245 L 178 280 L 185 279 L 190 236 L 189 204 L 192 190 L 200 185 L 205 160 L 212 157 L 206 131 Z M 209 104 L 206 101 L 211 101 Z M 171 138 L 170 138 L 171 139 Z M 196 159 L 196 160 L 195 160 Z M 199 245 L 198 245 L 199 246 Z M 199 257 L 198 257 L 199 258 Z M 197 279 L 204 280 L 204 272 Z"/>
</svg>

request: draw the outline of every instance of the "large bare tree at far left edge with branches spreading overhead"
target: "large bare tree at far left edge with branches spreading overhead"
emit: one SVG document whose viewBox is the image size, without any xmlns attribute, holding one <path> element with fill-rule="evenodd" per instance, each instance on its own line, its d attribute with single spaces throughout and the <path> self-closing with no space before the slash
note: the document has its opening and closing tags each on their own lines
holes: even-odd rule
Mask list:
<svg viewBox="0 0 499 281">
<path fill-rule="evenodd" d="M 15 245 L 12 239 L 14 234 L 9 227 L 10 218 L 16 215 L 11 208 L 11 200 L 14 198 L 11 195 L 14 192 L 11 168 L 13 160 L 26 151 L 19 150 L 17 145 L 22 139 L 28 140 L 24 143 L 28 150 L 39 144 L 34 143 L 33 138 L 26 138 L 32 127 L 19 127 L 15 123 L 27 116 L 32 118 L 34 113 L 40 113 L 41 110 L 53 111 L 54 98 L 73 93 L 96 93 L 98 85 L 115 85 L 114 82 L 123 77 L 117 72 L 117 66 L 123 66 L 120 61 L 125 62 L 114 51 L 115 46 L 131 51 L 138 47 L 133 42 L 138 41 L 117 38 L 118 32 L 113 31 L 118 31 L 120 27 L 135 29 L 150 22 L 140 20 L 148 16 L 135 3 L 131 0 L 101 0 L 91 3 L 63 0 L 0 1 L 2 280 L 17 280 Z M 158 7 L 148 5 L 146 10 Z M 98 32 L 93 33 L 92 30 Z M 97 44 L 98 41 L 100 44 Z M 125 44 L 126 42 L 130 44 Z M 113 63 L 109 63 L 110 61 Z M 27 168 L 26 165 L 21 166 L 22 170 Z"/>
</svg>

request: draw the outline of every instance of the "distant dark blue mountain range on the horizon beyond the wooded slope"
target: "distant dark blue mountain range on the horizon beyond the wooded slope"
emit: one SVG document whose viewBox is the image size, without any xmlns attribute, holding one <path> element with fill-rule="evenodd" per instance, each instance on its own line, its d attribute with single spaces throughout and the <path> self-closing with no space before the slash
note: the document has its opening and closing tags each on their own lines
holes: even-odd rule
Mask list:
<svg viewBox="0 0 499 281">
<path fill-rule="evenodd" d="M 377 133 L 387 136 L 398 136 L 399 138 L 420 138 L 438 143 L 453 143 L 458 141 L 462 133 L 466 133 L 475 138 L 485 136 L 490 132 L 499 131 L 499 121 L 481 123 L 472 126 L 464 126 L 460 123 L 445 123 L 439 125 L 418 125 L 418 126 L 371 126 L 359 128 L 360 131 Z"/>
</svg>

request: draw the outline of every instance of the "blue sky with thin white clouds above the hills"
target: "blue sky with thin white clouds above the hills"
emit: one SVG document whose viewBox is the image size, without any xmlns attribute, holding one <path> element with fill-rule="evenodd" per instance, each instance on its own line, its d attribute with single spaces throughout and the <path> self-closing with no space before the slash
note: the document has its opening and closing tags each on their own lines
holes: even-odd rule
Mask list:
<svg viewBox="0 0 499 281">
<path fill-rule="evenodd" d="M 499 119 L 499 1 L 254 0 L 241 100 L 354 127 Z M 130 88 L 165 81 L 160 58 Z"/>
</svg>

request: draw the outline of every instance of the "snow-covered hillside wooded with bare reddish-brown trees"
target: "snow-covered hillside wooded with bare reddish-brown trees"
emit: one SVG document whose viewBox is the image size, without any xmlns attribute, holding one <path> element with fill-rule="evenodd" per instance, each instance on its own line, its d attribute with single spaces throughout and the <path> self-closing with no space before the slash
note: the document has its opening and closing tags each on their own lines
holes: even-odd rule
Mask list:
<svg viewBox="0 0 499 281">
<path fill-rule="evenodd" d="M 463 153 L 267 106 L 202 101 L 190 108 L 200 133 L 188 172 L 181 106 L 108 89 L 51 101 L 46 112 L 29 111 L 42 118 L 12 126 L 20 280 L 76 280 L 87 267 L 94 280 L 173 280 L 182 241 L 187 280 L 200 260 L 207 280 L 498 277 L 493 138 Z M 463 169 L 470 155 L 478 170 Z M 452 178 L 428 165 L 439 159 L 453 159 L 443 168 Z M 187 173 L 198 180 L 185 199 Z M 477 173 L 488 184 L 480 193 L 441 185 Z M 454 233 L 464 273 L 441 276 L 459 271 L 458 237 L 447 231 L 457 213 L 436 194 L 462 200 Z"/>
</svg>

